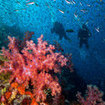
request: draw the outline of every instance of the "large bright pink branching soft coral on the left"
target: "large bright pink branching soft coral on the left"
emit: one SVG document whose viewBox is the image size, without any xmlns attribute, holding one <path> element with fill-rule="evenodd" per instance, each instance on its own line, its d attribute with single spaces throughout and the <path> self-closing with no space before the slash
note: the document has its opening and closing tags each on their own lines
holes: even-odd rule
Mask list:
<svg viewBox="0 0 105 105">
<path fill-rule="evenodd" d="M 21 51 L 18 48 L 16 39 L 8 37 L 10 40 L 9 49 L 2 49 L 3 55 L 9 59 L 5 62 L 0 71 L 11 71 L 12 81 L 27 86 L 29 81 L 33 85 L 34 96 L 37 101 L 44 101 L 46 94 L 44 89 L 51 89 L 51 95 L 55 96 L 61 92 L 61 87 L 52 73 L 61 71 L 61 67 L 67 64 L 67 58 L 61 53 L 55 53 L 55 47 L 42 41 L 43 35 L 38 38 L 35 44 L 32 40 L 26 41 L 26 47 Z"/>
</svg>

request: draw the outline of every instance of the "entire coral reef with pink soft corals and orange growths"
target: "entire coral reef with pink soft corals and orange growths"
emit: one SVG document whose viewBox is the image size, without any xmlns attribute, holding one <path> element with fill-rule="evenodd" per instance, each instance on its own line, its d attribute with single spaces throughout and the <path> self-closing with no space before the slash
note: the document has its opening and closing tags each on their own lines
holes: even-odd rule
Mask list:
<svg viewBox="0 0 105 105">
<path fill-rule="evenodd" d="M 8 49 L 3 47 L 0 52 L 1 105 L 105 104 L 102 99 L 103 92 L 92 85 L 87 86 L 84 97 L 78 92 L 76 95 L 78 100 L 68 100 L 69 97 L 74 97 L 73 93 L 78 89 L 70 78 L 72 77 L 76 83 L 77 78 L 74 78 L 72 73 L 74 70 L 71 62 L 72 55 L 60 53 L 59 51 L 62 50 L 59 50 L 61 49 L 59 45 L 49 45 L 42 40 L 43 35 L 35 44 L 33 40 L 30 40 L 33 34 L 33 32 L 27 31 L 23 41 L 9 36 Z M 78 81 L 80 84 L 79 79 Z M 66 95 L 71 95 L 65 97 L 64 92 Z"/>
</svg>

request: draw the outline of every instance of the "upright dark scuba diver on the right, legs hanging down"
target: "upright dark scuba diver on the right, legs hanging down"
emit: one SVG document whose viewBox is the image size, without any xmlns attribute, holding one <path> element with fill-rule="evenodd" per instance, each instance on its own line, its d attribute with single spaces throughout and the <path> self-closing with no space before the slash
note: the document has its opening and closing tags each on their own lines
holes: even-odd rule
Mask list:
<svg viewBox="0 0 105 105">
<path fill-rule="evenodd" d="M 88 38 L 91 36 L 91 33 L 85 24 L 82 25 L 82 28 L 79 29 L 78 38 L 80 39 L 79 47 L 81 48 L 85 44 L 86 48 L 89 48 Z"/>
</svg>

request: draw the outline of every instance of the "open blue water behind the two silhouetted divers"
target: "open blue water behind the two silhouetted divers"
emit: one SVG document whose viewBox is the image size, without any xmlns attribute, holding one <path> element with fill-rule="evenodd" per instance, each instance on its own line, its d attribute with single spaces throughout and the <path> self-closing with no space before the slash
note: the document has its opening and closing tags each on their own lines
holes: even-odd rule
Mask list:
<svg viewBox="0 0 105 105">
<path fill-rule="evenodd" d="M 8 26 L 9 34 L 21 39 L 19 33 L 34 32 L 36 41 L 41 34 L 44 40 L 57 40 L 65 53 L 72 53 L 72 62 L 78 75 L 87 84 L 105 89 L 105 1 L 104 0 L 0 0 L 0 26 Z M 34 2 L 33 4 L 27 4 Z M 59 22 L 71 41 L 51 33 L 53 24 Z M 79 48 L 78 30 L 86 24 L 92 36 L 89 48 Z M 13 31 L 13 32 L 12 32 Z M 18 34 L 18 35 L 16 35 Z"/>
</svg>

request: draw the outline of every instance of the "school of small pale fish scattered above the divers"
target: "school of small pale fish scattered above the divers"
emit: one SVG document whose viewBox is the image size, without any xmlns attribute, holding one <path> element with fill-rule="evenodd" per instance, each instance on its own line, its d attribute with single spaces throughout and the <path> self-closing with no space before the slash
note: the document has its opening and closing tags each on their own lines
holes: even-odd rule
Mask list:
<svg viewBox="0 0 105 105">
<path fill-rule="evenodd" d="M 56 0 L 53 0 L 53 2 L 55 2 L 56 3 Z M 16 3 L 18 4 L 18 5 L 22 5 L 21 4 L 21 1 L 19 2 L 19 1 L 16 1 Z M 90 11 L 89 11 L 89 9 L 91 10 L 91 7 L 93 7 L 93 5 L 92 4 L 89 4 L 88 2 L 86 2 L 85 0 L 83 0 L 83 1 L 80 1 L 79 2 L 79 4 L 78 4 L 78 2 L 76 1 L 76 0 L 63 0 L 63 4 L 64 3 L 66 3 L 66 5 L 68 5 L 68 6 L 75 6 L 75 7 L 77 7 L 77 6 L 79 6 L 81 9 L 79 10 L 81 13 L 83 13 L 83 14 L 87 14 L 87 13 L 89 13 Z M 93 4 L 95 4 L 95 3 L 97 3 L 97 5 L 101 5 L 101 4 L 104 4 L 104 2 L 102 1 L 102 0 L 96 0 L 96 1 L 94 1 L 94 2 L 92 2 Z M 25 1 L 25 6 L 23 7 L 23 8 L 19 8 L 19 9 L 15 9 L 14 11 L 15 12 L 19 12 L 19 11 L 23 11 L 23 10 L 27 10 L 27 8 L 28 7 L 31 7 L 31 6 L 37 6 L 37 7 L 40 7 L 39 5 L 40 4 L 38 4 L 36 1 L 30 1 L 30 0 L 26 0 Z M 52 8 L 53 6 L 51 5 L 50 6 L 50 2 L 48 3 L 48 2 L 45 2 L 45 4 L 46 4 L 46 6 L 48 7 L 48 9 L 50 9 L 50 8 Z M 85 5 L 85 6 L 84 6 Z M 87 6 L 87 8 L 86 8 L 86 6 Z M 89 9 L 88 9 L 89 8 Z M 98 6 L 96 6 L 96 8 L 98 8 Z M 61 14 L 63 14 L 63 16 L 65 15 L 65 13 L 67 13 L 66 12 L 66 9 L 65 8 L 60 8 L 60 7 L 58 7 L 58 8 L 56 8 L 57 9 L 57 11 L 59 11 Z M 97 10 L 99 10 L 99 8 L 97 9 Z M 69 13 L 69 12 L 68 12 Z M 81 23 L 81 16 L 80 16 L 80 13 L 78 13 L 77 11 L 74 11 L 74 13 L 73 13 L 73 15 L 74 15 L 74 20 L 75 21 L 79 21 L 80 23 Z M 101 15 L 100 15 L 101 16 Z M 66 16 L 64 16 L 64 17 L 66 17 Z M 90 18 L 90 20 L 91 20 L 91 18 Z M 92 20 L 92 21 L 94 21 L 94 20 Z M 85 22 L 85 24 L 88 24 L 89 23 L 89 20 L 87 20 L 86 22 Z M 95 24 L 95 23 L 94 23 Z M 94 30 L 96 31 L 96 32 L 100 32 L 100 28 L 99 28 L 100 26 L 97 26 L 97 27 L 94 27 Z"/>
</svg>

